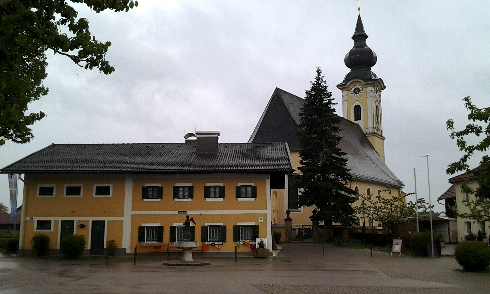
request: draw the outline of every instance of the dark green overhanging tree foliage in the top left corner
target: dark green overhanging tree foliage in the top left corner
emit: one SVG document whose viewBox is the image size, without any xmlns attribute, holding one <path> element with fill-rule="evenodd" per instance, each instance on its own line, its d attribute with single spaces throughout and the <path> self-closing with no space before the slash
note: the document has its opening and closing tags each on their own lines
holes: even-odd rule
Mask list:
<svg viewBox="0 0 490 294">
<path fill-rule="evenodd" d="M 138 5 L 129 0 L 72 0 L 85 3 L 95 12 L 128 11 Z M 27 105 L 48 93 L 46 52 L 70 58 L 85 69 L 98 68 L 109 74 L 114 68 L 105 60 L 110 42 L 92 36 L 85 18 L 65 0 L 0 1 L 0 146 L 5 140 L 27 143 L 30 125 L 45 117 L 25 114 Z"/>
</svg>

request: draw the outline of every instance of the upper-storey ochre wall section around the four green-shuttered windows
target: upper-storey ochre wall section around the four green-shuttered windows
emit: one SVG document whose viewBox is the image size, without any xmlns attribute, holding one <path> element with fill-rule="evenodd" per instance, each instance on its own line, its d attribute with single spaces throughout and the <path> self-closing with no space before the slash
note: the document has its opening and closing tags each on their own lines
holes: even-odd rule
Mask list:
<svg viewBox="0 0 490 294">
<path fill-rule="evenodd" d="M 208 183 L 222 183 L 225 196 L 222 201 L 209 201 L 204 198 L 204 186 Z M 241 201 L 235 197 L 238 183 L 253 183 L 257 186 L 257 198 L 254 201 Z M 161 201 L 142 199 L 142 187 L 145 184 L 157 184 L 163 187 Z M 194 198 L 190 201 L 173 199 L 175 184 L 192 184 Z M 212 177 L 212 178 L 135 178 L 133 179 L 133 211 L 179 211 L 179 210 L 266 210 L 267 189 L 264 177 Z"/>
</svg>

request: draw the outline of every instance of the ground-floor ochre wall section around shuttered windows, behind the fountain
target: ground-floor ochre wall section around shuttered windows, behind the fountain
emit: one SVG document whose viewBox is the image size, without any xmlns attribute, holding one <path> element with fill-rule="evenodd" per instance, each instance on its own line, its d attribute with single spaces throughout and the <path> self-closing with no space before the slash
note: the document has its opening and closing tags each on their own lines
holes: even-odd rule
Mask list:
<svg viewBox="0 0 490 294">
<path fill-rule="evenodd" d="M 163 242 L 169 243 L 170 227 L 174 224 L 182 225 L 185 221 L 185 214 L 180 215 L 133 215 L 131 218 L 131 252 L 134 252 L 134 246 L 138 243 L 138 227 L 143 224 L 159 224 L 163 226 Z M 268 238 L 268 222 L 267 213 L 263 214 L 191 214 L 191 217 L 196 221 L 194 240 L 202 245 L 201 242 L 201 226 L 206 223 L 222 223 L 226 225 L 226 242 L 220 249 L 210 246 L 205 252 L 231 252 L 235 251 L 236 242 L 233 242 L 233 226 L 239 223 L 254 224 L 259 226 L 259 238 Z M 264 221 L 259 222 L 259 217 L 263 217 Z M 193 226 L 194 224 L 191 223 Z M 248 252 L 252 251 L 248 245 L 238 245 L 237 251 Z"/>
</svg>

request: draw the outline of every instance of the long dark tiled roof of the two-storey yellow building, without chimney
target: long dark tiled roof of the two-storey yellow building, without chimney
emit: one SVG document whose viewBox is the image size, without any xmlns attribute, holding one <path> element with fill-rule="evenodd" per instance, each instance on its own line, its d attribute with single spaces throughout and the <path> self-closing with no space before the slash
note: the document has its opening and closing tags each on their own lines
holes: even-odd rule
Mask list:
<svg viewBox="0 0 490 294">
<path fill-rule="evenodd" d="M 284 172 L 285 143 L 218 144 L 216 154 L 196 154 L 195 144 L 52 144 L 3 168 L 16 172 Z"/>
</svg>

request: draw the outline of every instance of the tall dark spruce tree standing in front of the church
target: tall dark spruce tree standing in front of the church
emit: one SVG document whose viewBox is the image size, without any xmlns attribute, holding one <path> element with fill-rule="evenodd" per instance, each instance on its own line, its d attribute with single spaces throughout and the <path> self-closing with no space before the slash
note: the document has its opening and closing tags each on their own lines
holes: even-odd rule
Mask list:
<svg viewBox="0 0 490 294">
<path fill-rule="evenodd" d="M 332 92 L 329 92 L 321 69 L 317 68 L 315 81 L 306 91 L 300 112 L 300 164 L 301 175 L 297 186 L 302 188 L 298 197 L 301 206 L 313 206 L 312 221 L 352 224 L 356 221 L 351 203 L 356 192 L 346 184 L 353 180 L 345 167 L 346 154 L 337 145 L 341 118 L 335 114 Z"/>
</svg>

